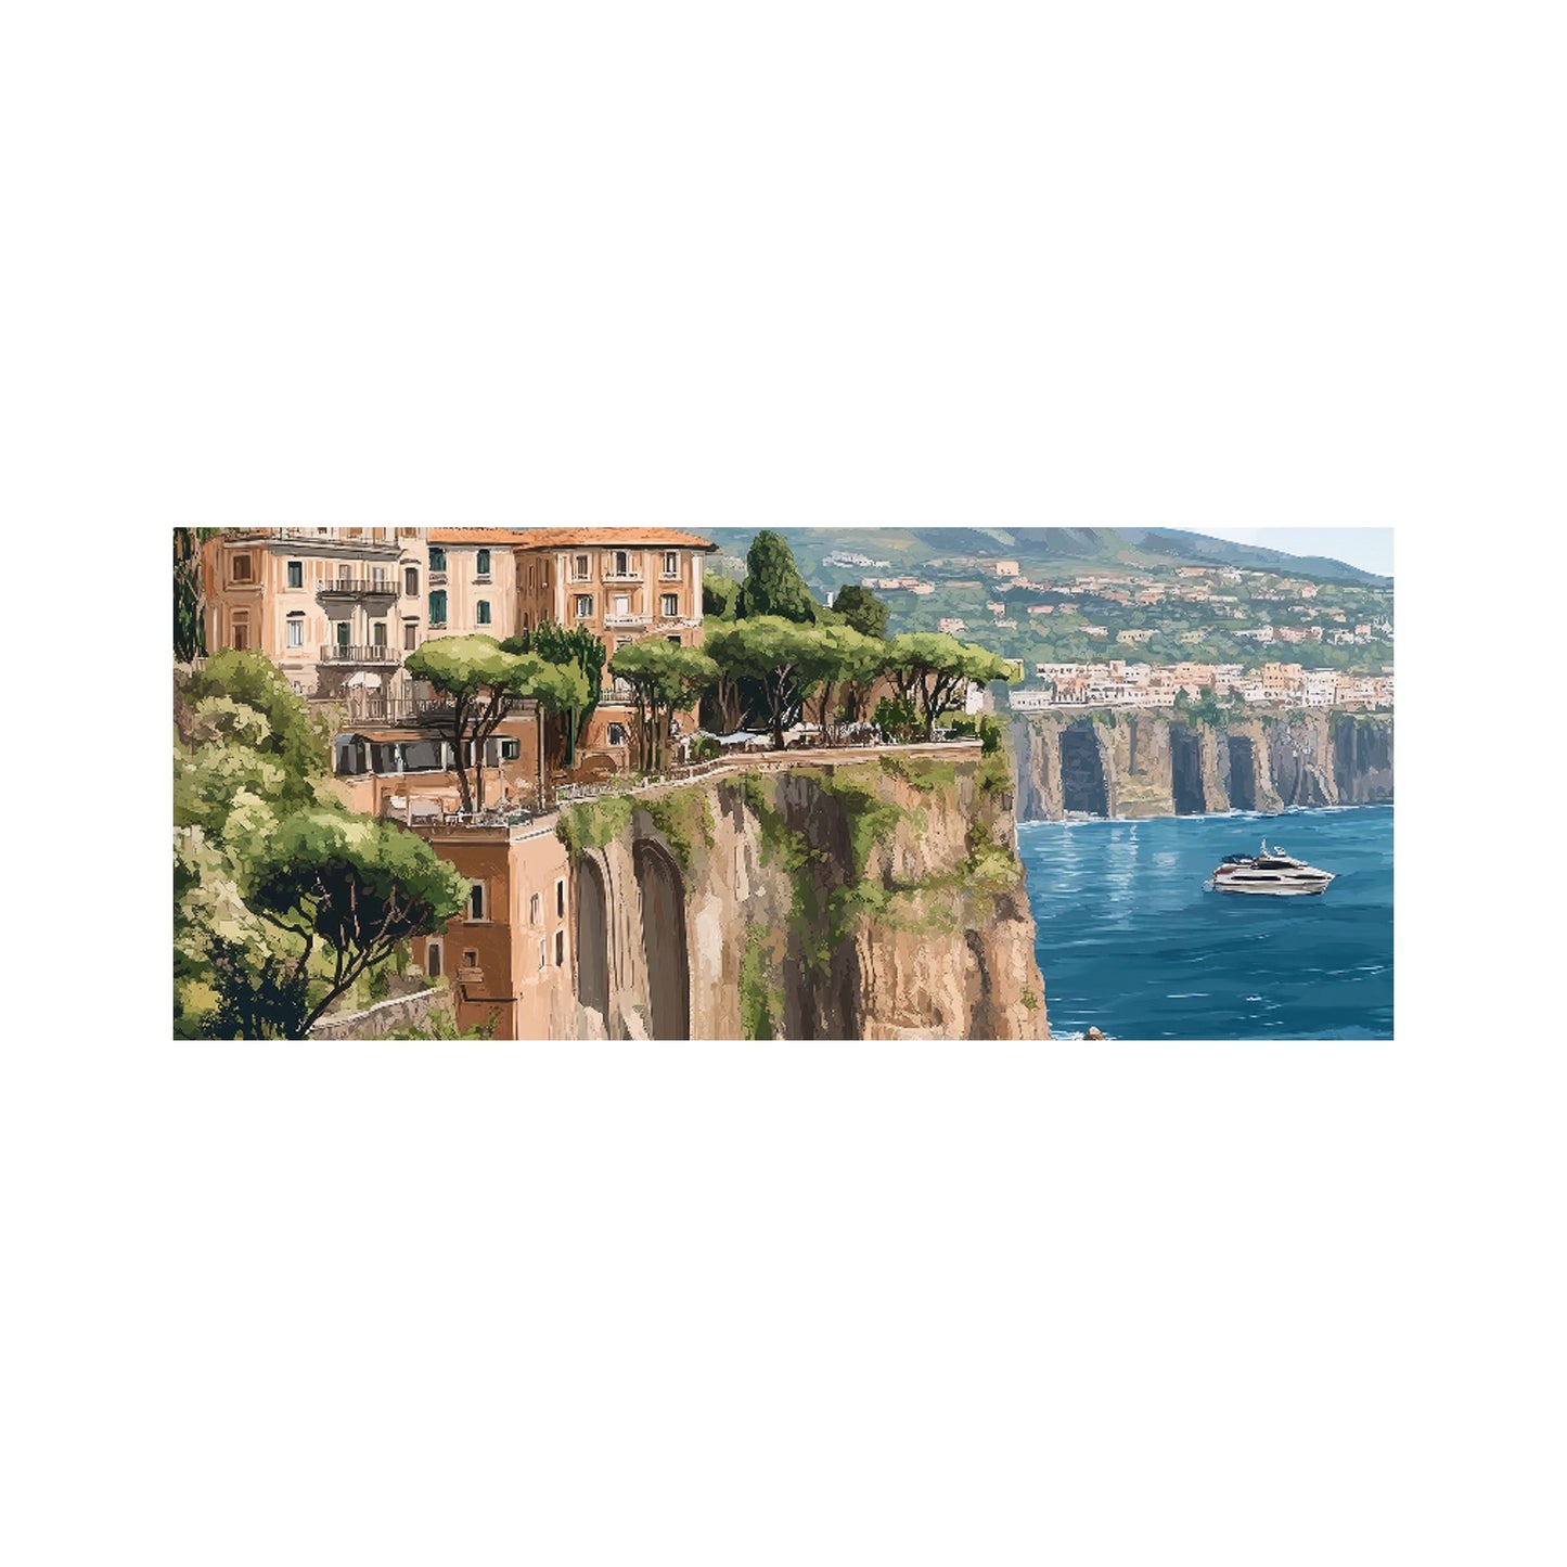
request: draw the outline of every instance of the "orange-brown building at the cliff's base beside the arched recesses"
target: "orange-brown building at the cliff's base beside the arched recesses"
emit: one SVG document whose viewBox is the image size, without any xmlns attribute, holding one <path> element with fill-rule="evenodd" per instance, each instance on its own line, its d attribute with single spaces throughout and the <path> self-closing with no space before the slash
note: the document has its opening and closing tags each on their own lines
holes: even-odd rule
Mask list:
<svg viewBox="0 0 1567 1567">
<path fill-rule="evenodd" d="M 458 1028 L 494 1015 L 497 1039 L 563 1037 L 575 953 L 570 860 L 553 823 L 414 831 L 469 882 L 462 914 L 440 935 L 414 939 L 414 962 L 451 986 Z"/>
</svg>

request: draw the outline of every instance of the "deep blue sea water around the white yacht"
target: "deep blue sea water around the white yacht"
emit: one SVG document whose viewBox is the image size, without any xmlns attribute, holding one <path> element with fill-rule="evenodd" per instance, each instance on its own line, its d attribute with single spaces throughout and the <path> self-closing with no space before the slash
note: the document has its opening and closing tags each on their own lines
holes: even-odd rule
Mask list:
<svg viewBox="0 0 1567 1567">
<path fill-rule="evenodd" d="M 1390 1039 L 1393 807 L 1026 823 L 1019 849 L 1050 1031 L 1111 1039 Z M 1203 892 L 1268 838 L 1319 898 Z"/>
</svg>

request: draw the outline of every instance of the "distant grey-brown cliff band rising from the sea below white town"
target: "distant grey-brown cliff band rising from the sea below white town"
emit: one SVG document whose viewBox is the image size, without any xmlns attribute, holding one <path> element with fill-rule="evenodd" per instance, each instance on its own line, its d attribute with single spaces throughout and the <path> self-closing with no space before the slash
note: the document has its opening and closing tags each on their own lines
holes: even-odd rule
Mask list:
<svg viewBox="0 0 1567 1567">
<path fill-rule="evenodd" d="M 1023 821 L 1279 812 L 1393 798 L 1393 715 L 1307 708 L 1210 726 L 1095 708 L 1012 716 Z"/>
</svg>

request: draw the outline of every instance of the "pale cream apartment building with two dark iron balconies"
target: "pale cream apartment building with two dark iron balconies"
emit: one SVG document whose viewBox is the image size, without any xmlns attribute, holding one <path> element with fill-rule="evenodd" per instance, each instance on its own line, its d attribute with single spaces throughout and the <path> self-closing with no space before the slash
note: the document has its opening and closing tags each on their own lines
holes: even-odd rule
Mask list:
<svg viewBox="0 0 1567 1567">
<path fill-rule="evenodd" d="M 417 528 L 227 528 L 202 545 L 207 647 L 265 653 L 304 696 L 381 685 L 425 636 Z"/>
</svg>

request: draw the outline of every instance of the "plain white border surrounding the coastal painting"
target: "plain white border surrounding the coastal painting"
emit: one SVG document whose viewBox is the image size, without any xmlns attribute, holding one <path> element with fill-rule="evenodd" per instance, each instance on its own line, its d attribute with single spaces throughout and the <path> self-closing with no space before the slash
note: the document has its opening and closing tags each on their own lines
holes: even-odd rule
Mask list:
<svg viewBox="0 0 1567 1567">
<path fill-rule="evenodd" d="M 8 1559 L 1562 1559 L 1543 8 L 9 36 Z M 1393 525 L 1398 1039 L 171 1047 L 166 530 L 318 520 Z"/>
</svg>

